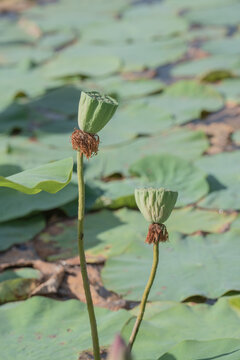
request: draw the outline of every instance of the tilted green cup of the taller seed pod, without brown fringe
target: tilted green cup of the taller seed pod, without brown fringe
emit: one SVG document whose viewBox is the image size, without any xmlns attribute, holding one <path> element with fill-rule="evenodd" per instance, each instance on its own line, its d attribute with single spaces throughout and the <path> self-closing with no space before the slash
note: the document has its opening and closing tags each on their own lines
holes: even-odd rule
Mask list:
<svg viewBox="0 0 240 360">
<path fill-rule="evenodd" d="M 102 96 L 97 91 L 82 91 L 78 107 L 79 128 L 97 134 L 111 120 L 117 107 L 117 101 L 110 96 Z"/>
</svg>

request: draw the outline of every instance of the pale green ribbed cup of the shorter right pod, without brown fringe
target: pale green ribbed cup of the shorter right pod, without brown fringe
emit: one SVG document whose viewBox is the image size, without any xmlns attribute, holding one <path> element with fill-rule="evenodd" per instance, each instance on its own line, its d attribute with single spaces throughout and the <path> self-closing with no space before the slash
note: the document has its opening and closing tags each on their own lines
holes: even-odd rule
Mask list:
<svg viewBox="0 0 240 360">
<path fill-rule="evenodd" d="M 178 193 L 164 188 L 135 189 L 137 206 L 145 219 L 151 223 L 163 224 L 170 216 Z"/>
</svg>

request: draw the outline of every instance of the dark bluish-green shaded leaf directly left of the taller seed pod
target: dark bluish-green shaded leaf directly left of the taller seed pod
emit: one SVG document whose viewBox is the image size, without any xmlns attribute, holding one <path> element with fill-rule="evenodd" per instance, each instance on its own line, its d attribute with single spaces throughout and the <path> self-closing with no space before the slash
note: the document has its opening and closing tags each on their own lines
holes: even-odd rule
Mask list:
<svg viewBox="0 0 240 360">
<path fill-rule="evenodd" d="M 36 136 L 40 131 L 50 134 L 70 132 L 75 126 L 70 117 L 77 113 L 75 105 L 79 101 L 80 91 L 79 86 L 61 86 L 35 97 L 31 102 L 13 102 L 0 113 L 0 130 L 3 133 L 11 133 L 18 129 L 21 134 L 28 136 Z M 6 139 L 11 145 L 11 138 Z M 16 142 L 16 139 L 19 142 Z M 20 136 L 12 138 L 13 150 L 16 149 L 16 144 L 27 143 L 27 138 L 23 138 L 22 142 L 20 139 Z M 29 146 L 32 145 L 34 148 L 34 145 L 38 145 L 35 138 L 31 140 Z M 64 143 L 67 146 L 67 138 Z"/>
</svg>

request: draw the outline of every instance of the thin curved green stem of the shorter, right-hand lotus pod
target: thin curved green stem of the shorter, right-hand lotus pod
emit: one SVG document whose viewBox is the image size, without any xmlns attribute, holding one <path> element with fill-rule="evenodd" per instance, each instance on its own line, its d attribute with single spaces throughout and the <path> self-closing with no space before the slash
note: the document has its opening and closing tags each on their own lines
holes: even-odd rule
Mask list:
<svg viewBox="0 0 240 360">
<path fill-rule="evenodd" d="M 134 341 L 136 339 L 136 336 L 138 334 L 138 331 L 139 331 L 139 328 L 140 328 L 140 325 L 141 325 L 141 322 L 142 322 L 142 319 L 144 316 L 148 295 L 151 290 L 151 287 L 152 287 L 152 284 L 153 284 L 153 281 L 155 279 L 155 275 L 157 272 L 158 259 L 159 259 L 159 243 L 157 242 L 157 243 L 153 244 L 153 264 L 152 264 L 151 274 L 149 276 L 147 285 L 145 287 L 145 290 L 144 290 L 144 293 L 142 296 L 142 300 L 141 300 L 141 304 L 140 304 L 139 314 L 137 316 L 137 320 L 133 327 L 132 334 L 130 336 L 129 343 L 128 343 L 128 348 L 130 351 L 132 350 Z"/>
</svg>

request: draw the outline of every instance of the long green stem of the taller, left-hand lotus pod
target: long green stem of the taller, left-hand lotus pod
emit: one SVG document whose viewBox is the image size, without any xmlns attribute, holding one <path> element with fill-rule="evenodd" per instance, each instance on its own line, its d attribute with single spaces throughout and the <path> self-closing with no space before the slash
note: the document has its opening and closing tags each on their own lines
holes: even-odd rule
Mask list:
<svg viewBox="0 0 240 360">
<path fill-rule="evenodd" d="M 85 210 L 85 188 L 83 179 L 83 154 L 77 152 L 77 175 L 78 175 L 78 248 L 81 265 L 81 274 L 83 280 L 83 287 L 88 308 L 88 315 L 91 325 L 93 355 L 95 360 L 100 360 L 100 349 L 97 331 L 97 322 L 94 313 L 93 301 L 90 291 L 90 285 L 87 274 L 86 258 L 84 252 L 83 239 L 83 225 L 84 225 L 84 210 Z"/>
</svg>

